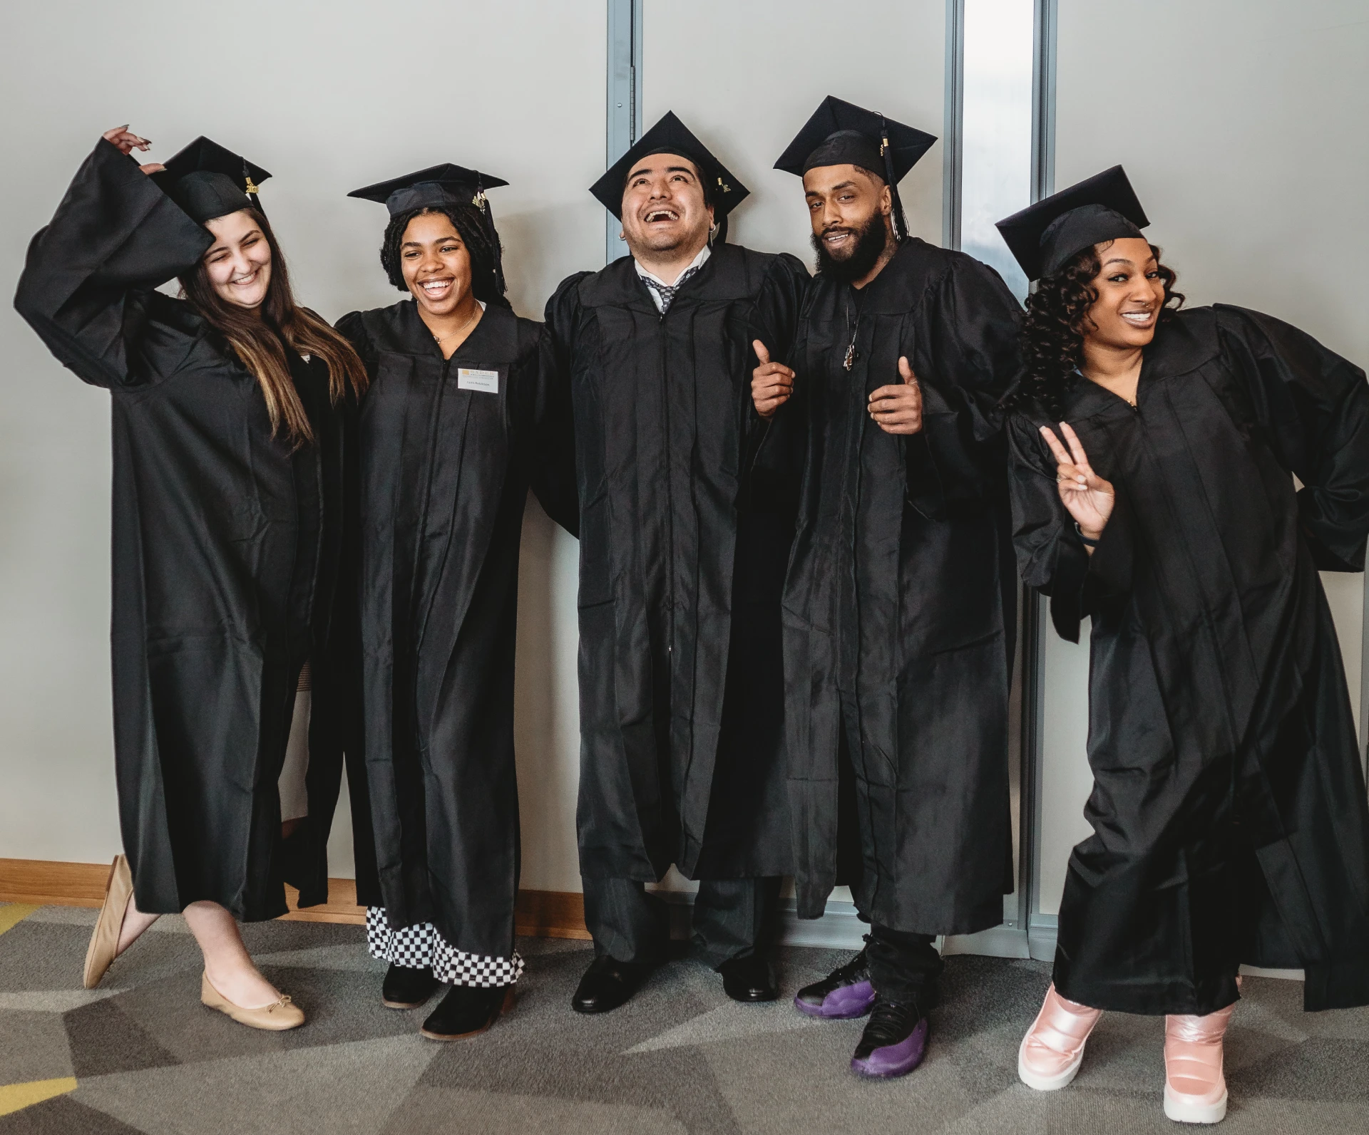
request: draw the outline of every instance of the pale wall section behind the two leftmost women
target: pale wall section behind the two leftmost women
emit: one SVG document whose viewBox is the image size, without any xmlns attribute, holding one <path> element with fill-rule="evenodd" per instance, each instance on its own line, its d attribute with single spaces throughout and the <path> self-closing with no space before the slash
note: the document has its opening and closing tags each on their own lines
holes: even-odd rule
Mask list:
<svg viewBox="0 0 1369 1135">
<path fill-rule="evenodd" d="M 349 189 L 438 161 L 497 174 L 511 298 L 541 319 L 570 272 L 604 263 L 601 0 L 5 4 L 0 280 L 111 126 L 166 159 L 208 134 L 268 168 L 261 197 L 303 302 L 329 319 L 398 298 L 386 215 Z M 0 857 L 119 849 L 110 725 L 108 395 L 0 310 Z M 517 741 L 524 886 L 578 889 L 575 543 L 524 522 Z M 334 874 L 348 874 L 345 837 Z M 341 859 L 342 862 L 337 862 Z"/>
</svg>

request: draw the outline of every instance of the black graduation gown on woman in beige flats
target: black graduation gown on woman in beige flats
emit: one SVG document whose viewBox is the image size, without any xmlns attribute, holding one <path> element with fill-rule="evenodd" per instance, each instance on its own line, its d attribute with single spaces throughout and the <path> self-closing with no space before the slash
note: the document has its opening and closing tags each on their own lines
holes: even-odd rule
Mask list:
<svg viewBox="0 0 1369 1135">
<path fill-rule="evenodd" d="M 114 417 L 114 745 L 138 909 L 285 913 L 326 901 L 326 845 L 355 714 L 342 548 L 349 409 L 326 366 L 292 371 L 316 443 L 272 436 L 256 379 L 153 289 L 211 243 L 100 141 L 34 237 L 15 308 Z M 294 685 L 314 671 L 309 820 L 286 855 L 277 779 Z M 364 816 L 366 799 L 353 814 Z M 367 889 L 370 826 L 355 833 Z"/>
</svg>

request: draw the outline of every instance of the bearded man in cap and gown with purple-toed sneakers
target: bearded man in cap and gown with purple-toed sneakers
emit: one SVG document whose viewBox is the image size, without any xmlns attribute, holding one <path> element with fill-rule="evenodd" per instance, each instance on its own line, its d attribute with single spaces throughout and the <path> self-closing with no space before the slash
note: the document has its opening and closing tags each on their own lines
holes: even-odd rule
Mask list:
<svg viewBox="0 0 1369 1135">
<path fill-rule="evenodd" d="M 995 406 L 1020 373 L 1020 309 L 991 268 L 909 235 L 897 185 L 932 142 L 830 97 L 775 163 L 804 179 L 819 275 L 793 369 L 765 362 L 752 386 L 763 417 L 808 427 L 783 602 L 798 913 L 846 882 L 872 924 L 794 1004 L 869 1013 L 852 1060 L 867 1076 L 919 1064 L 935 937 L 997 926 L 1013 890 Z"/>
</svg>

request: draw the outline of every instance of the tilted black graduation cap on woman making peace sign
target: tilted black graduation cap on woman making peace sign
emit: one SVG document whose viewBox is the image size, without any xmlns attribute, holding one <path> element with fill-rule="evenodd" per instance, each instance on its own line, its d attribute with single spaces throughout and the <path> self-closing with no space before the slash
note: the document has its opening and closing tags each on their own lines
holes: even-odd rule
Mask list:
<svg viewBox="0 0 1369 1135">
<path fill-rule="evenodd" d="M 1058 272 L 1102 241 L 1140 237 L 1150 222 L 1121 165 L 1043 197 L 997 223 L 1028 280 Z"/>
</svg>

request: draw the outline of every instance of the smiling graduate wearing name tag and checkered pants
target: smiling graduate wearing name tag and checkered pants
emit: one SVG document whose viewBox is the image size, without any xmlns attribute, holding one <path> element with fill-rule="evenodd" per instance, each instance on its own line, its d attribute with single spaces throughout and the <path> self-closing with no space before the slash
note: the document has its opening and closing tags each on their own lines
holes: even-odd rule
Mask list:
<svg viewBox="0 0 1369 1135">
<path fill-rule="evenodd" d="M 390 963 L 382 1001 L 452 989 L 422 1034 L 482 1032 L 512 1004 L 519 877 L 513 637 L 531 485 L 576 531 L 568 408 L 542 386 L 541 324 L 504 297 L 485 190 L 438 165 L 352 193 L 383 202 L 381 264 L 408 298 L 338 330 L 371 382 L 361 408 L 367 779 Z"/>
</svg>

